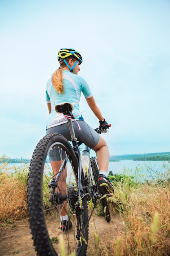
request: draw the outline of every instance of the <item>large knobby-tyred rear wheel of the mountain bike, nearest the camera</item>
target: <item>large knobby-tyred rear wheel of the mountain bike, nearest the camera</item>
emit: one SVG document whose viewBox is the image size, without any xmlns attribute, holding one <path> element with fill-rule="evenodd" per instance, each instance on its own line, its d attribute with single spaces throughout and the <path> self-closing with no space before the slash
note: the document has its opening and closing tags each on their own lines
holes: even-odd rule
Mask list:
<svg viewBox="0 0 170 256">
<path fill-rule="evenodd" d="M 49 154 L 53 156 L 53 162 L 55 155 L 60 156 L 60 162 L 58 157 L 56 164 L 60 164 L 62 174 L 57 183 L 53 177 Z M 86 199 L 78 196 L 77 166 L 73 148 L 60 134 L 44 136 L 34 150 L 29 169 L 27 204 L 31 234 L 39 256 L 61 254 L 62 239 L 64 255 L 73 252 L 77 256 L 86 255 L 88 209 Z M 74 210 L 79 201 L 80 206 Z M 73 224 L 68 231 L 62 231 L 60 227 L 63 212 L 68 214 Z"/>
</svg>

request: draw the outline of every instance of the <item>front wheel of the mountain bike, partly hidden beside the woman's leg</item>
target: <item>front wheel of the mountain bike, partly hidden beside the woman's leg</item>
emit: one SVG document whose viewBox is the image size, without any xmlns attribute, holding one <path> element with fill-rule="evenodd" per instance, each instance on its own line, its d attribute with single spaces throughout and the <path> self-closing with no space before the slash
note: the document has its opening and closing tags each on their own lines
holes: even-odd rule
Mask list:
<svg viewBox="0 0 170 256">
<path fill-rule="evenodd" d="M 93 177 L 94 177 L 95 183 L 97 185 L 97 189 L 98 189 L 99 193 L 102 194 L 103 189 L 98 184 L 99 171 L 98 171 L 96 160 L 95 160 L 94 157 L 91 158 L 91 168 L 92 168 L 92 171 L 93 171 Z M 100 203 L 102 205 L 102 210 L 103 210 L 104 216 L 106 218 L 106 221 L 110 222 L 111 218 L 110 218 L 110 211 L 109 211 L 109 208 L 108 208 L 107 199 L 106 198 L 100 199 Z"/>
</svg>

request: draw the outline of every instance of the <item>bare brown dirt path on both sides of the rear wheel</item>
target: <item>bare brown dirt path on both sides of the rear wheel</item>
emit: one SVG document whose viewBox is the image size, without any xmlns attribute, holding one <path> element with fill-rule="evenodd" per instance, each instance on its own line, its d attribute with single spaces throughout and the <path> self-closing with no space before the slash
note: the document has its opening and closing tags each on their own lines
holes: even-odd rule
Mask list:
<svg viewBox="0 0 170 256">
<path fill-rule="evenodd" d="M 104 218 L 97 215 L 90 223 L 95 222 L 97 235 L 103 244 L 116 243 L 117 237 L 124 234 L 123 220 L 119 214 L 112 216 L 110 223 L 107 223 Z M 94 240 L 94 225 L 89 228 L 89 242 Z M 93 246 L 93 245 L 92 245 Z M 93 246 L 94 248 L 94 246 Z M 35 256 L 35 248 L 31 239 L 28 218 L 16 220 L 12 225 L 4 225 L 0 227 L 0 256 Z M 87 252 L 87 256 L 88 256 Z M 113 254 L 114 256 L 114 254 Z"/>
</svg>

